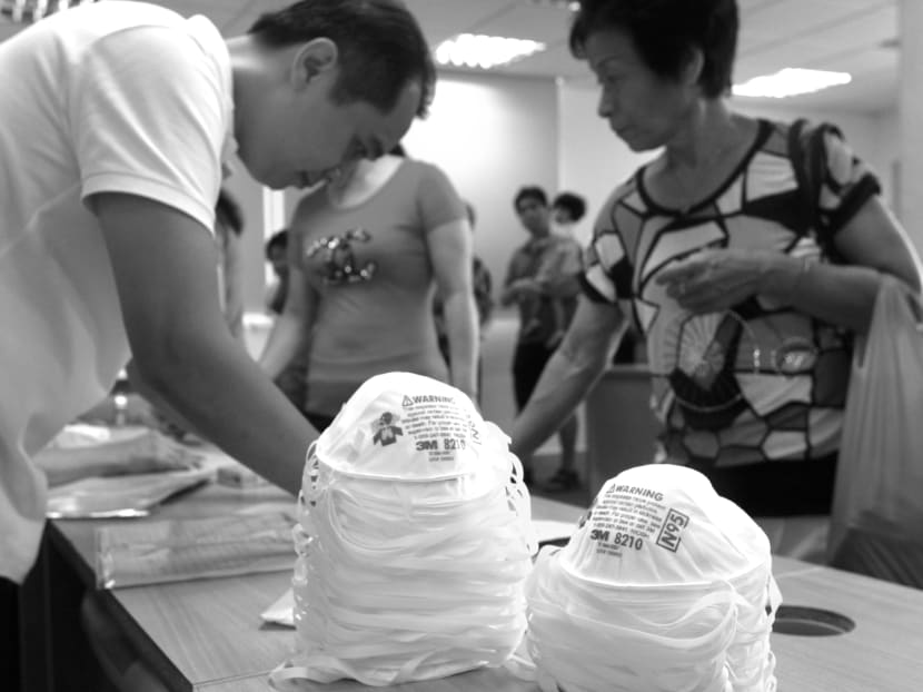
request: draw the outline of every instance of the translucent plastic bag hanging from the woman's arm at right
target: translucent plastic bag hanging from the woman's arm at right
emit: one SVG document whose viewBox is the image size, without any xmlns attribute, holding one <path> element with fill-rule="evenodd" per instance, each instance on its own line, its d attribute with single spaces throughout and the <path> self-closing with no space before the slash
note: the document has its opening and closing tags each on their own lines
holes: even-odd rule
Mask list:
<svg viewBox="0 0 923 692">
<path fill-rule="evenodd" d="M 885 275 L 853 356 L 827 555 L 923 589 L 921 315 L 920 296 Z"/>
</svg>

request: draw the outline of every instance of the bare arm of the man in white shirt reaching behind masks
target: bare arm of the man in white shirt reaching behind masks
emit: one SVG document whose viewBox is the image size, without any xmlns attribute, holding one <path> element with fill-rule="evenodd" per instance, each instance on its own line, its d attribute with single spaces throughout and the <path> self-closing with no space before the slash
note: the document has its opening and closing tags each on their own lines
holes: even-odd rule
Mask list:
<svg viewBox="0 0 923 692">
<path fill-rule="evenodd" d="M 208 230 L 132 195 L 96 195 L 91 207 L 141 378 L 230 456 L 297 493 L 317 431 L 228 332 Z"/>
</svg>

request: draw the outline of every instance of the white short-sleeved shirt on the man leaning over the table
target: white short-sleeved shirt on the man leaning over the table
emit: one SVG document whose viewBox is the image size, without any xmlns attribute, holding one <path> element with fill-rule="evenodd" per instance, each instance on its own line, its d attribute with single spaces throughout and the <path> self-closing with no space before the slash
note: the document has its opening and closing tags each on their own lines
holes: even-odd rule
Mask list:
<svg viewBox="0 0 923 692">
<path fill-rule="evenodd" d="M 112 0 L 0 43 L 0 576 L 21 581 L 44 521 L 30 462 L 129 358 L 88 196 L 175 207 L 209 231 L 231 135 L 218 30 Z"/>
</svg>

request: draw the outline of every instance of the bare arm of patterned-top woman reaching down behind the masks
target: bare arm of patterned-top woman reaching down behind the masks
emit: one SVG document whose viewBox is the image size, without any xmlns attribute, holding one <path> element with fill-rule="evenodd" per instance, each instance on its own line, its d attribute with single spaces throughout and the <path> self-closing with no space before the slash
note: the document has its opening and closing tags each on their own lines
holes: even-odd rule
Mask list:
<svg viewBox="0 0 923 692">
<path fill-rule="evenodd" d="M 513 424 L 515 454 L 528 457 L 567 421 L 605 370 L 627 324 L 617 306 L 580 297 L 564 340 Z"/>
</svg>

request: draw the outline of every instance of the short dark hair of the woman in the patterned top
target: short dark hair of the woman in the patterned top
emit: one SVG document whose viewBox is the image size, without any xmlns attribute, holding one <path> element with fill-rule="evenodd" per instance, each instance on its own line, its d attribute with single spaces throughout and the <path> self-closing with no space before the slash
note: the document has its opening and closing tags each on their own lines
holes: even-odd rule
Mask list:
<svg viewBox="0 0 923 692">
<path fill-rule="evenodd" d="M 736 0 L 583 0 L 570 26 L 570 52 L 583 58 L 589 34 L 619 29 L 648 68 L 676 79 L 698 49 L 702 92 L 718 98 L 731 89 L 738 23 Z"/>
</svg>

